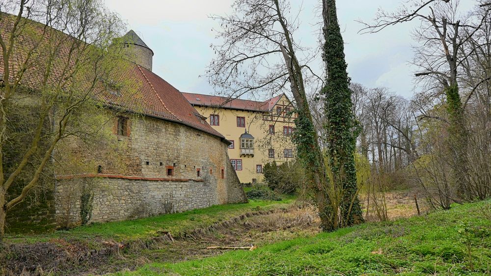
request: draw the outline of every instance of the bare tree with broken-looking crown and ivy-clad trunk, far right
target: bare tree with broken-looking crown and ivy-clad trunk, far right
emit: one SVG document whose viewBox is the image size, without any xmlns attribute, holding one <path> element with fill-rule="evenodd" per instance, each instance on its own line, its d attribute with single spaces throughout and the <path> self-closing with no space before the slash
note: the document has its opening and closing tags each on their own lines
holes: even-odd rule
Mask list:
<svg viewBox="0 0 491 276">
<path fill-rule="evenodd" d="M 420 46 L 416 48 L 415 64 L 420 67 L 416 77 L 426 82 L 428 89 L 445 95 L 448 113 L 447 150 L 451 155 L 454 179 L 461 195 L 472 199 L 468 175 L 468 130 L 465 126 L 464 104 L 459 93 L 459 68 L 468 55 L 459 49 L 483 26 L 491 7 L 481 3 L 483 12 L 460 16 L 458 0 L 409 1 L 396 12 L 380 11 L 373 24 L 365 23 L 362 31 L 379 32 L 389 26 L 412 20 L 421 22 L 415 30 Z M 435 85 L 436 83 L 436 85 Z"/>
</svg>

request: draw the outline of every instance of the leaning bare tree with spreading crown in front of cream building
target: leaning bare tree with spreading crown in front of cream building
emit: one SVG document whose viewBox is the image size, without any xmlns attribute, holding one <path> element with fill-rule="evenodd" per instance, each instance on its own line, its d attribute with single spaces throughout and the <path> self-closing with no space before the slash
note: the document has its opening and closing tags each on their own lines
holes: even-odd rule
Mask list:
<svg viewBox="0 0 491 276">
<path fill-rule="evenodd" d="M 234 97 L 246 93 L 273 95 L 279 91 L 293 94 L 297 113 L 293 140 L 309 179 L 305 188 L 314 191 L 322 228 L 334 229 L 338 227 L 334 211 L 338 206 L 331 199 L 337 193 L 326 174 L 307 98 L 307 90 L 317 89 L 320 78 L 308 66 L 313 57 L 298 58 L 297 53 L 306 50 L 293 37 L 298 19 L 286 18 L 289 6 L 280 0 L 237 0 L 232 7 L 236 11 L 233 15 L 213 17 L 222 26 L 218 38 L 223 43 L 213 46 L 217 58 L 208 71 L 210 83 Z"/>
</svg>

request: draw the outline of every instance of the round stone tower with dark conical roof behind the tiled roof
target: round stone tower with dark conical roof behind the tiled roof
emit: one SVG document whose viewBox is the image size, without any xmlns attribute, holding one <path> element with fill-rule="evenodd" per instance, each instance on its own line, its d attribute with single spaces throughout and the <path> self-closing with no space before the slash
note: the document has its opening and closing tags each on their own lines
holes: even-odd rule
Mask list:
<svg viewBox="0 0 491 276">
<path fill-rule="evenodd" d="M 127 32 L 123 36 L 123 39 L 125 49 L 130 49 L 128 50 L 129 55 L 132 55 L 132 59 L 135 61 L 135 63 L 152 71 L 152 49 L 150 49 L 133 30 Z"/>
</svg>

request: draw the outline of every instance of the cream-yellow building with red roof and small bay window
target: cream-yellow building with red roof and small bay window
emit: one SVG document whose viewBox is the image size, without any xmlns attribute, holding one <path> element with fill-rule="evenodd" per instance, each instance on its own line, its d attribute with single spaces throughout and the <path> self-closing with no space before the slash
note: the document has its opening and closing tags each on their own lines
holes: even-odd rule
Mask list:
<svg viewBox="0 0 491 276">
<path fill-rule="evenodd" d="M 293 106 L 285 94 L 267 101 L 183 93 L 208 123 L 232 142 L 228 155 L 242 183 L 263 180 L 264 164 L 294 158 Z"/>
</svg>

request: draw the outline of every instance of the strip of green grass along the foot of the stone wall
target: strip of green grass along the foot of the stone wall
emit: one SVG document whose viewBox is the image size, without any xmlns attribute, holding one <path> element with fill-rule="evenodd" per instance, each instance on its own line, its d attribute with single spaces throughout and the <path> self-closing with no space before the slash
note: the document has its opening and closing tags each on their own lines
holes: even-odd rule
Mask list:
<svg viewBox="0 0 491 276">
<path fill-rule="evenodd" d="M 213 223 L 224 221 L 246 212 L 279 208 L 295 201 L 295 197 L 285 197 L 282 201 L 249 200 L 245 204 L 215 205 L 204 209 L 196 209 L 183 213 L 167 214 L 134 221 L 117 221 L 94 223 L 67 231 L 56 231 L 44 235 L 11 235 L 10 243 L 46 242 L 51 239 L 95 240 L 110 239 L 118 242 L 131 242 L 159 235 L 168 231 L 173 235 L 185 230 L 207 227 Z"/>
</svg>

